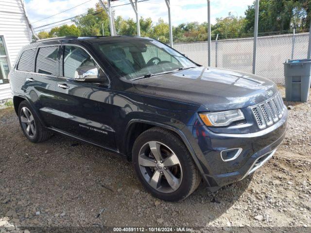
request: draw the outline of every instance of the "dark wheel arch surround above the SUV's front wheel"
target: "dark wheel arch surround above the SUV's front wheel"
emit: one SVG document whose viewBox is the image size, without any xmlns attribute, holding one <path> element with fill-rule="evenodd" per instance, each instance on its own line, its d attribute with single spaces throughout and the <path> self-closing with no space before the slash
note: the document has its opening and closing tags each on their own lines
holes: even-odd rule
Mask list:
<svg viewBox="0 0 311 233">
<path fill-rule="evenodd" d="M 140 130 L 136 131 L 136 127 L 141 127 Z M 132 119 L 126 127 L 125 133 L 124 133 L 124 148 L 126 149 L 125 154 L 128 157 L 128 159 L 130 160 L 132 158 L 132 148 L 133 148 L 133 144 L 136 140 L 136 138 L 143 133 L 144 131 L 152 128 L 152 127 L 160 127 L 163 129 L 166 129 L 172 133 L 174 133 L 176 136 L 178 136 L 181 141 L 186 145 L 186 147 L 188 148 L 191 157 L 196 165 L 196 167 L 198 168 L 198 170 L 200 171 L 201 174 L 203 174 L 203 168 L 198 160 L 198 158 L 196 157 L 196 154 L 192 148 L 192 146 L 190 145 L 190 142 L 188 141 L 186 135 L 180 130 L 177 129 L 173 126 L 170 125 L 166 125 L 163 123 L 158 123 L 158 122 L 153 122 L 153 121 L 149 121 L 149 120 L 143 120 L 143 119 Z M 143 129 L 143 130 L 142 130 Z"/>
</svg>

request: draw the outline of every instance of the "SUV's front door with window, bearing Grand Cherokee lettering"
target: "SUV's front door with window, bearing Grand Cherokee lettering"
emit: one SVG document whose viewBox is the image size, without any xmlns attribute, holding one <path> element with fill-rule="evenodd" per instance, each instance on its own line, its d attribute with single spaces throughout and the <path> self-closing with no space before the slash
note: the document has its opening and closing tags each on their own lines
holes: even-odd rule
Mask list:
<svg viewBox="0 0 311 233">
<path fill-rule="evenodd" d="M 74 81 L 78 67 L 94 66 L 96 62 L 82 47 L 61 47 L 60 76 L 57 78 L 56 109 L 61 116 L 58 128 L 106 148 L 115 148 L 112 128 L 112 94 L 106 83 Z"/>
</svg>

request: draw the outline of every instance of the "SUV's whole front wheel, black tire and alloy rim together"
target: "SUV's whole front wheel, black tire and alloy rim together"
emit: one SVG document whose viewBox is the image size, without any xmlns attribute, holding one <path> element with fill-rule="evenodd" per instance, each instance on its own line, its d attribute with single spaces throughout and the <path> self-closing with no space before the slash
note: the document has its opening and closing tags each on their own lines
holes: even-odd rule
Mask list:
<svg viewBox="0 0 311 233">
<path fill-rule="evenodd" d="M 184 200 L 201 181 L 185 144 L 174 133 L 159 127 L 138 136 L 132 162 L 143 186 L 162 200 Z"/>
</svg>

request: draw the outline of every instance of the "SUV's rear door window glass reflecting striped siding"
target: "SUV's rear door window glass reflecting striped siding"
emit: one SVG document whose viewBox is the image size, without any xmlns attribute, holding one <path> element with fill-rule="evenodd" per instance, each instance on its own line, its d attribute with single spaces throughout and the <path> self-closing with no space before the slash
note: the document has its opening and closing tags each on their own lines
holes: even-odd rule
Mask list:
<svg viewBox="0 0 311 233">
<path fill-rule="evenodd" d="M 35 72 L 40 74 L 51 74 L 58 76 L 58 46 L 39 48 L 35 62 Z"/>
</svg>

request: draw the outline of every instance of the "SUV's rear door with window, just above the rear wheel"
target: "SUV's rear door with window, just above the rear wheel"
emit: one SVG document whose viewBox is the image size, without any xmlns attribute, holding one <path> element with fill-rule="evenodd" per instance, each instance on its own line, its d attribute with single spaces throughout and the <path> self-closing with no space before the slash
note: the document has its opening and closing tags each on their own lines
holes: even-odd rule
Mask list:
<svg viewBox="0 0 311 233">
<path fill-rule="evenodd" d="M 44 123 L 51 127 L 58 122 L 55 114 L 55 87 L 59 75 L 58 45 L 38 47 L 35 56 L 35 72 L 29 73 L 25 92 Z"/>
</svg>

